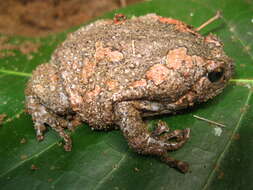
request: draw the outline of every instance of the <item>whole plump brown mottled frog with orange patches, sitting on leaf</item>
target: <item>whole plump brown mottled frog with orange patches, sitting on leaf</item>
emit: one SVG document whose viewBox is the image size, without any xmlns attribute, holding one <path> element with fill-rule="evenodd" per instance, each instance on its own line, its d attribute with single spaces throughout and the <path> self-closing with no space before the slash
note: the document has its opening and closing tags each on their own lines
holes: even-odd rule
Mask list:
<svg viewBox="0 0 253 190">
<path fill-rule="evenodd" d="M 149 132 L 142 118 L 176 113 L 219 94 L 233 64 L 214 35 L 148 14 L 100 20 L 70 34 L 50 62 L 38 66 L 26 89 L 26 108 L 39 140 L 45 125 L 72 144 L 64 129 L 82 122 L 93 129 L 118 126 L 138 153 L 156 155 L 182 172 L 188 164 L 168 150 L 180 148 L 190 129 Z M 170 139 L 176 139 L 171 141 Z"/>
</svg>

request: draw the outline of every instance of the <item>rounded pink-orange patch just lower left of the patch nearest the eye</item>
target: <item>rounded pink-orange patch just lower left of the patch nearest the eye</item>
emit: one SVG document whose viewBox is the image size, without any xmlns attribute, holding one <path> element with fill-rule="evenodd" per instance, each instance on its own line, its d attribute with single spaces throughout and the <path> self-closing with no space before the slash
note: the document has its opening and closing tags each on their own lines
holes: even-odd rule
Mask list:
<svg viewBox="0 0 253 190">
<path fill-rule="evenodd" d="M 155 85 L 159 85 L 167 78 L 169 72 L 170 71 L 166 66 L 156 64 L 146 72 L 146 77 L 147 79 L 152 80 Z"/>
</svg>

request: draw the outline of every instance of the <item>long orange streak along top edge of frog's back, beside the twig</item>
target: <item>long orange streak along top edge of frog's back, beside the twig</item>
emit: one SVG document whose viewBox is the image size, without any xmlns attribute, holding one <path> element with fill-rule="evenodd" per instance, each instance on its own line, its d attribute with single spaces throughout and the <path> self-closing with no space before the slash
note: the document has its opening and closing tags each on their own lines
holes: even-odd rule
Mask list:
<svg viewBox="0 0 253 190">
<path fill-rule="evenodd" d="M 166 17 L 159 17 L 158 19 L 162 23 L 167 24 L 174 24 L 176 25 L 177 30 L 181 32 L 189 32 L 195 35 L 199 35 L 196 31 L 192 30 L 187 24 L 180 20 L 172 19 L 172 18 L 166 18 Z"/>
</svg>

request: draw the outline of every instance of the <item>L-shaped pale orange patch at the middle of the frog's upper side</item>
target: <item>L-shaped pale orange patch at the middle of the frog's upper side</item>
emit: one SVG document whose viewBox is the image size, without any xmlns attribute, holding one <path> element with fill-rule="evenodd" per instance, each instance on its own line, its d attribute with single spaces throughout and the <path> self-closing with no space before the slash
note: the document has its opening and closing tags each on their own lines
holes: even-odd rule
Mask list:
<svg viewBox="0 0 253 190">
<path fill-rule="evenodd" d="M 119 51 L 112 51 L 110 48 L 104 48 L 102 42 L 96 42 L 95 59 L 97 61 L 107 59 L 110 62 L 118 62 L 124 58 L 123 54 Z"/>
</svg>

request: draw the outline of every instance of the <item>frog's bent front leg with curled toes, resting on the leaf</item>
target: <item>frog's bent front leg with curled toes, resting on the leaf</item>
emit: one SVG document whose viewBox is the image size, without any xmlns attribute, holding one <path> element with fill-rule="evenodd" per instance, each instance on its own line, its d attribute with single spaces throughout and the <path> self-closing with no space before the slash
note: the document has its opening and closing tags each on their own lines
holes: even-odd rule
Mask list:
<svg viewBox="0 0 253 190">
<path fill-rule="evenodd" d="M 158 124 L 157 129 L 150 133 L 143 122 L 141 112 L 136 109 L 133 102 L 119 102 L 115 105 L 117 124 L 128 140 L 129 146 L 140 154 L 159 156 L 169 166 L 181 172 L 188 171 L 188 164 L 176 160 L 167 154 L 168 150 L 176 150 L 183 146 L 189 138 L 189 129 L 168 132 L 163 124 Z M 169 142 L 175 139 L 174 142 Z"/>
</svg>

